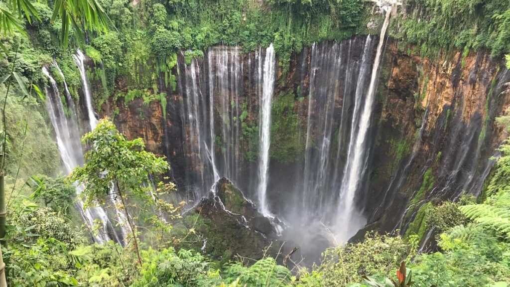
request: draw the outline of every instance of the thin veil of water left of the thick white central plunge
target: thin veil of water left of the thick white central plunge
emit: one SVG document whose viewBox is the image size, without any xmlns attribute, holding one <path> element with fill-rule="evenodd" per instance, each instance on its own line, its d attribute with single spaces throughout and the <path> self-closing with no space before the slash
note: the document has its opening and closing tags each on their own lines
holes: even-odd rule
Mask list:
<svg viewBox="0 0 510 287">
<path fill-rule="evenodd" d="M 177 70 L 183 96 L 183 149 L 190 155 L 187 164 L 193 171 L 187 188 L 196 202 L 213 190 L 211 186 L 221 177 L 239 182 L 242 52 L 239 47 L 211 47 L 203 60 L 178 61 Z"/>
</svg>

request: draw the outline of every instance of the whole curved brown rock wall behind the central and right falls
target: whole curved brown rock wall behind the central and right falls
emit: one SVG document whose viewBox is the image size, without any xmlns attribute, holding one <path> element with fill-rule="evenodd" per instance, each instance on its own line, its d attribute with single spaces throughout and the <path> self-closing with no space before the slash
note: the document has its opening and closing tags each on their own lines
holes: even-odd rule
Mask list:
<svg viewBox="0 0 510 287">
<path fill-rule="evenodd" d="M 293 56 L 289 73 L 277 71 L 267 195 L 271 212 L 285 221 L 335 224 L 377 41 L 315 44 Z M 166 105 L 118 100 L 102 113 L 118 108 L 115 122 L 126 136 L 167 156 L 183 195 L 197 200 L 215 176 L 225 176 L 256 200 L 265 57 L 263 49 L 225 46 L 188 62 L 180 55 L 175 89 L 160 81 Z M 483 52 L 423 59 L 412 47 L 386 43 L 355 197 L 368 224 L 405 229 L 425 202 L 480 193 L 489 158 L 506 137 L 494 118 L 508 105 L 500 94 L 508 81 L 507 69 Z"/>
</svg>

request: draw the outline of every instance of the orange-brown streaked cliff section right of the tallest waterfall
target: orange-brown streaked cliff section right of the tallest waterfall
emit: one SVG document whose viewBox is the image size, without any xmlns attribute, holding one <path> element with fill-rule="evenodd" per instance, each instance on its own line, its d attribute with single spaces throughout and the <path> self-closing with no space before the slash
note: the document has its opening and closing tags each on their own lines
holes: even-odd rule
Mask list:
<svg viewBox="0 0 510 287">
<path fill-rule="evenodd" d="M 383 229 L 405 230 L 424 203 L 481 192 L 507 136 L 494 118 L 508 105 L 509 75 L 483 51 L 423 59 L 391 43 L 385 55 L 367 210 Z"/>
</svg>

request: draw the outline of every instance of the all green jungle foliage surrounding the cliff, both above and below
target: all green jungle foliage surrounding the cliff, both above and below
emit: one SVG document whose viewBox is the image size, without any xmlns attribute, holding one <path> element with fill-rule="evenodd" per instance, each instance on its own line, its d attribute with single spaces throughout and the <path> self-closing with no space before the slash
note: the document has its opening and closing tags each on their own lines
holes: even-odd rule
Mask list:
<svg viewBox="0 0 510 287">
<path fill-rule="evenodd" d="M 360 243 L 327 249 L 322 261 L 309 269 L 282 266 L 286 254 L 261 256 L 264 258 L 247 263 L 234 256 L 218 258 L 202 254 L 200 248 L 190 249 L 190 238 L 200 238 L 195 229 L 200 221 L 182 219 L 179 211 L 183 204 L 161 199 L 171 195 L 175 186 L 163 178 L 158 179 L 165 183 L 151 189 L 142 185 L 148 177 L 145 171 L 158 177 L 169 168 L 166 161 L 145 152 L 142 140 L 127 140 L 107 119 L 84 137 L 89 145 L 97 143 L 101 152 L 89 153 L 90 164 L 70 178 L 62 175 L 44 96 L 32 84 L 44 91 L 42 87 L 49 83 L 41 67 L 48 66 L 57 83 L 63 85 L 52 65 L 56 61 L 66 75 L 70 94 L 79 103 L 80 74 L 72 59 L 77 45 L 94 62 L 95 68 L 88 70 L 90 79 L 102 84 L 96 107 L 134 98 L 160 101 L 165 106 L 167 88 L 175 89 L 174 67 L 179 53 L 190 61 L 218 43 L 240 45 L 246 51 L 273 43 L 286 73 L 291 55 L 303 46 L 377 33 L 380 15 L 371 13 L 371 3 L 100 0 L 109 17 L 108 29 L 88 31 L 83 42 L 71 29 L 67 45 L 62 32 L 68 30 L 69 22 L 53 19 L 56 3 L 62 1 L 33 2 L 38 17 L 30 21 L 25 14 L 11 14 L 20 21 L 21 29 L 10 34 L 2 30 L 0 40 L 5 48 L 0 77 L 15 71 L 29 87 L 27 91 L 22 85 L 14 88 L 10 85 L 14 79 L 5 82 L 2 78 L 0 84 L 0 94 L 5 95 L 0 100 L 5 113 L 2 123 L 8 127 L 4 146 L 8 225 L 2 250 L 10 285 L 393 286 L 387 278 L 402 281 L 401 272 L 396 273 L 402 261 L 406 262 L 407 274 L 412 274 L 413 286 L 504 287 L 510 282 L 510 142 L 501 146 L 501 156 L 495 159 L 481 198 L 465 196 L 456 203 L 424 204 L 404 236 L 367 233 Z M 0 25 L 5 22 L 3 17 L 9 16 L 4 5 L 0 5 L 4 15 Z M 508 1 L 410 0 L 399 9 L 390 34 L 405 50 L 414 49 L 424 57 L 453 49 L 464 54 L 484 49 L 494 57 L 510 52 Z M 288 108 L 285 99 L 278 103 L 277 111 Z M 276 121 L 278 125 L 273 128 L 296 130 L 290 119 Z M 288 145 L 283 151 L 274 151 L 283 162 L 291 157 L 285 153 L 289 147 L 292 154 L 302 153 L 295 144 L 299 139 L 279 140 Z M 120 153 L 129 154 L 131 161 L 122 161 Z M 107 178 L 94 173 L 101 162 L 111 165 Z M 91 243 L 89 233 L 99 231 L 88 230 L 74 208 L 75 181 L 89 186 L 81 196 L 90 205 L 101 201 L 101 194 L 110 188 L 108 182 L 120 182 L 123 194 L 131 200 L 123 209 L 132 211 L 139 222 L 138 226 L 129 223 L 127 246 Z M 423 186 L 430 184 L 424 180 Z M 148 189 L 157 196 L 147 196 Z M 158 216 L 162 211 L 172 214 L 175 223 L 164 222 Z M 180 220 L 191 220 L 191 227 Z M 427 253 L 428 246 L 422 248 L 420 243 L 430 230 L 437 251 Z"/>
</svg>

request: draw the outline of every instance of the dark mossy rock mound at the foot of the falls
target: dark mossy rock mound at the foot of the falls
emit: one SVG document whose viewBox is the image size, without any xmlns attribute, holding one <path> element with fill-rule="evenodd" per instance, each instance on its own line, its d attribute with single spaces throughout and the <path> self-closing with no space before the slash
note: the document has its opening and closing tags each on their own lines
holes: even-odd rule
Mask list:
<svg viewBox="0 0 510 287">
<path fill-rule="evenodd" d="M 215 192 L 203 198 L 193 212 L 205 222 L 195 225 L 195 232 L 203 234 L 202 251 L 216 259 L 241 256 L 257 260 L 264 253 L 276 257 L 282 245 L 271 222 L 226 178 L 217 181 Z"/>
</svg>

